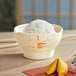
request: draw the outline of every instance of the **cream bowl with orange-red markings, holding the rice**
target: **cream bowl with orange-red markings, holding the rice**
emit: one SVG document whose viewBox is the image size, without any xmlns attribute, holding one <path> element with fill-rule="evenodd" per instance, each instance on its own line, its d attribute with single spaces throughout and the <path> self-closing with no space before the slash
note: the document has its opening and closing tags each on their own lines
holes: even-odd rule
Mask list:
<svg viewBox="0 0 76 76">
<path fill-rule="evenodd" d="M 19 46 L 23 50 L 24 57 L 31 59 L 46 59 L 54 55 L 55 48 L 59 44 L 63 28 L 54 24 L 55 34 L 25 34 L 28 24 L 21 24 L 14 28 L 14 34 Z"/>
</svg>

